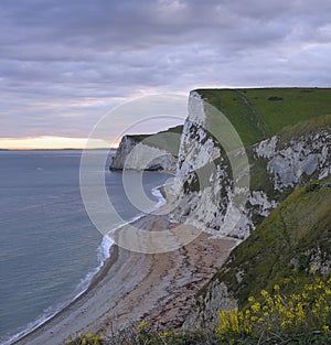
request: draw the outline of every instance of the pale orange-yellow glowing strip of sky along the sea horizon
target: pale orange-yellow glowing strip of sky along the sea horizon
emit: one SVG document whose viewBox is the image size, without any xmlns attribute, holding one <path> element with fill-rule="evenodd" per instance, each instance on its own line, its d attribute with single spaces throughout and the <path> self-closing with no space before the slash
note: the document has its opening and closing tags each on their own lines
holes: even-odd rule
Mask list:
<svg viewBox="0 0 331 345">
<path fill-rule="evenodd" d="M 4 150 L 51 150 L 51 149 L 88 149 L 110 148 L 113 143 L 102 139 L 66 138 L 66 137 L 25 137 L 0 138 L 0 149 Z"/>
</svg>

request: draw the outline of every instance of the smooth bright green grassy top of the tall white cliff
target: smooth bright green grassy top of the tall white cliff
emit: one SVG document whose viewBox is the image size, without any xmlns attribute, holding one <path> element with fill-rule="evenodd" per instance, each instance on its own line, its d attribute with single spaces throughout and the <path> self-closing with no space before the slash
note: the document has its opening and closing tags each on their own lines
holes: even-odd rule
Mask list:
<svg viewBox="0 0 331 345">
<path fill-rule="evenodd" d="M 331 114 L 331 88 L 196 89 L 220 109 L 244 145 L 269 138 L 282 128 Z"/>
</svg>

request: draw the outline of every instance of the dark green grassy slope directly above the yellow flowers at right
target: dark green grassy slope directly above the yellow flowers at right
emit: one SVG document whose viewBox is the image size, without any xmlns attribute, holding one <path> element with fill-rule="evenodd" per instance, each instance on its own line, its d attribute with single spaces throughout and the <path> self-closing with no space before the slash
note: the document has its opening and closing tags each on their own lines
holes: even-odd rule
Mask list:
<svg viewBox="0 0 331 345">
<path fill-rule="evenodd" d="M 226 282 L 242 306 L 249 295 L 258 295 L 261 289 L 271 289 L 291 276 L 291 260 L 303 282 L 311 265 L 309 250 L 319 247 L 324 258 L 331 257 L 330 183 L 331 176 L 317 182 L 316 190 L 312 183 L 297 188 L 233 250 L 213 280 Z M 241 282 L 238 272 L 244 272 Z"/>
</svg>

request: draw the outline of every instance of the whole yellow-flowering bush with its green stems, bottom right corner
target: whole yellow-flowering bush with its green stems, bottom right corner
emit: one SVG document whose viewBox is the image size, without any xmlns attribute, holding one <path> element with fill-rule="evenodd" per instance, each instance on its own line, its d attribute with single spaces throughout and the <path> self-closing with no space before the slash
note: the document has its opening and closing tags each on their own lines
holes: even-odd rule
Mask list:
<svg viewBox="0 0 331 345">
<path fill-rule="evenodd" d="M 286 279 L 250 297 L 245 309 L 220 311 L 216 333 L 227 344 L 331 344 L 331 278 L 297 285 Z M 329 342 L 329 343 L 328 343 Z"/>
</svg>

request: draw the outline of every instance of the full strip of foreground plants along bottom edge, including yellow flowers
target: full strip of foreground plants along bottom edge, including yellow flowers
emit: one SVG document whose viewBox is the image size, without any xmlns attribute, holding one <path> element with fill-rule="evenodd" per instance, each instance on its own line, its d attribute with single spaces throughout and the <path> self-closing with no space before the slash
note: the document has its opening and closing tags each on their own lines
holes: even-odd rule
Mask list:
<svg viewBox="0 0 331 345">
<path fill-rule="evenodd" d="M 327 345 L 331 343 L 331 278 L 310 276 L 298 290 L 291 279 L 249 297 L 245 309 L 221 310 L 214 330 L 169 330 L 157 332 L 142 321 L 111 338 L 87 333 L 67 345 Z M 296 292 L 293 292 L 296 291 Z M 299 292 L 298 292 L 299 291 Z"/>
</svg>

